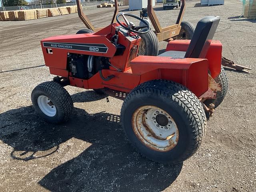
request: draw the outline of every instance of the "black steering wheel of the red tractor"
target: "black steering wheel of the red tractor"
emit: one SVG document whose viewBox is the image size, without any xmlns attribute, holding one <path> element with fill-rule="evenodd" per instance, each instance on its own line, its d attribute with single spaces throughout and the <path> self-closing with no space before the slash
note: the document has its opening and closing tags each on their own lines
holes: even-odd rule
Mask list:
<svg viewBox="0 0 256 192">
<path fill-rule="evenodd" d="M 142 23 L 145 24 L 145 26 L 135 26 L 133 22 L 129 22 L 129 21 L 127 20 L 127 18 L 125 17 L 125 15 L 140 20 Z M 120 16 L 122 16 L 122 17 L 124 18 L 124 21 L 125 21 L 125 23 L 126 23 L 127 26 L 124 26 L 124 25 L 120 22 L 120 20 L 119 20 L 119 17 L 120 17 Z M 116 21 L 118 22 L 118 24 L 120 24 L 120 26 L 121 26 L 122 28 L 125 28 L 126 30 L 131 31 L 131 32 L 134 32 L 134 33 L 144 34 L 144 33 L 149 32 L 149 30 L 150 30 L 150 27 L 149 27 L 149 25 L 148 25 L 148 23 L 147 23 L 146 21 L 144 21 L 142 18 L 139 18 L 139 17 L 137 17 L 137 16 L 135 16 L 135 15 L 132 15 L 132 14 L 129 14 L 129 13 L 119 13 L 119 14 L 116 16 Z M 140 29 L 143 29 L 143 28 L 147 28 L 146 31 L 139 31 Z"/>
</svg>

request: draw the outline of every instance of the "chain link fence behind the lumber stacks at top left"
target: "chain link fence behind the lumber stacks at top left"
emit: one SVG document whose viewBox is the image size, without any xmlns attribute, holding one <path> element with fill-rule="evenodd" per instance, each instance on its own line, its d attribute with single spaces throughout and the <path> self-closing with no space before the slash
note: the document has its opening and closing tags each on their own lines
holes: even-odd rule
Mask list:
<svg viewBox="0 0 256 192">
<path fill-rule="evenodd" d="M 111 0 L 90 0 L 88 2 L 81 2 L 83 9 L 96 9 L 97 5 L 102 3 L 111 3 Z M 123 5 L 123 0 L 118 1 Z M 11 6 L 11 7 L 0 7 L 0 11 L 16 11 L 16 10 L 29 10 L 29 9 L 44 9 L 44 8 L 56 8 L 56 7 L 64 7 L 64 6 L 74 6 L 76 2 L 68 2 L 63 4 L 35 4 L 35 5 L 26 5 L 26 6 Z"/>
</svg>

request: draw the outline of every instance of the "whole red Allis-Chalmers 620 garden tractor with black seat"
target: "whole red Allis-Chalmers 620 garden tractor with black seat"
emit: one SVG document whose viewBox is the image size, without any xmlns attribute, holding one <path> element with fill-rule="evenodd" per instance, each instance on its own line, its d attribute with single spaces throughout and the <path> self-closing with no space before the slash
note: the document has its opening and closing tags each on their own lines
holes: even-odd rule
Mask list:
<svg viewBox="0 0 256 192">
<path fill-rule="evenodd" d="M 182 162 L 200 146 L 206 114 L 226 95 L 222 44 L 212 40 L 220 19 L 203 18 L 192 40 L 170 41 L 158 56 L 138 56 L 138 34 L 149 32 L 147 22 L 127 13 L 117 14 L 116 21 L 94 33 L 41 41 L 45 64 L 57 76 L 34 88 L 34 108 L 48 122 L 60 123 L 73 111 L 64 86 L 104 92 L 124 100 L 122 126 L 141 154 L 161 163 Z"/>
</svg>

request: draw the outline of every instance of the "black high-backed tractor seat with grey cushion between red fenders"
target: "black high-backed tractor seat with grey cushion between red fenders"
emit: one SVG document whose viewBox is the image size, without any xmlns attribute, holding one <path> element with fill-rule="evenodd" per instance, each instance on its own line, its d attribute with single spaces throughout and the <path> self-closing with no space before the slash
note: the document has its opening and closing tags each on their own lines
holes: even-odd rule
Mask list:
<svg viewBox="0 0 256 192">
<path fill-rule="evenodd" d="M 196 25 L 194 35 L 186 52 L 166 51 L 158 56 L 172 58 L 205 58 L 219 22 L 220 18 L 214 16 L 207 16 L 201 19 Z"/>
</svg>

